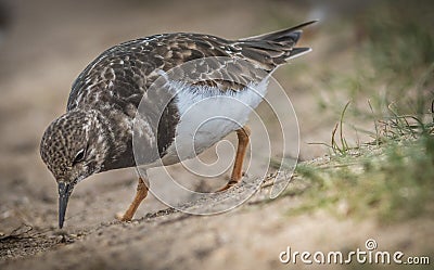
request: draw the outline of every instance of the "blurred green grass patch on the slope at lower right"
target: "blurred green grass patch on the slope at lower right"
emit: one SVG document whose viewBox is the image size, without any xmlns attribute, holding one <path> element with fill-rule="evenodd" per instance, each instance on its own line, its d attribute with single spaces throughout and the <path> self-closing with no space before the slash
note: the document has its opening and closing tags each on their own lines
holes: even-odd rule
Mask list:
<svg viewBox="0 0 434 270">
<path fill-rule="evenodd" d="M 337 217 L 378 217 L 392 222 L 434 214 L 434 138 L 363 146 L 327 164 L 301 164 L 309 183 L 291 214 L 324 208 Z"/>
</svg>

